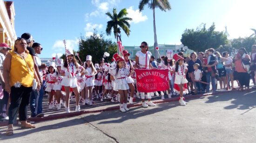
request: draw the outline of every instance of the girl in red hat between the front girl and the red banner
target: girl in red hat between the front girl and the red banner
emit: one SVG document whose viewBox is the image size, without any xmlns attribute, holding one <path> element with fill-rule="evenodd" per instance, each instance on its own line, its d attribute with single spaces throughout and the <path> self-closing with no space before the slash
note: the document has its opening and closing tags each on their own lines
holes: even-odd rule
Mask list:
<svg viewBox="0 0 256 143">
<path fill-rule="evenodd" d="M 128 53 L 127 50 L 122 50 L 122 55 L 124 57 L 124 60 L 125 60 L 125 68 L 129 70 L 129 72 L 133 71 L 134 68 L 133 68 L 133 64 L 130 60 L 130 54 Z M 133 104 L 133 99 L 134 99 L 134 93 L 135 93 L 135 87 L 134 87 L 134 80 L 131 76 L 128 76 L 127 77 L 127 83 L 128 83 L 128 86 L 130 87 L 131 89 L 131 97 L 129 99 L 129 103 Z"/>
</svg>

